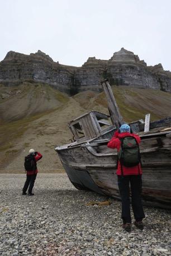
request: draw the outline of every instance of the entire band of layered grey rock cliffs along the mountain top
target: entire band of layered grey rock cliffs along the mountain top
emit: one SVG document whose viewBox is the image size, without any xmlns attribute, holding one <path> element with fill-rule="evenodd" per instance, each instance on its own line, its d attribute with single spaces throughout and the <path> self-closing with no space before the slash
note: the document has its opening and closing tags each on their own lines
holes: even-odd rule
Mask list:
<svg viewBox="0 0 171 256">
<path fill-rule="evenodd" d="M 111 84 L 154 88 L 171 92 L 171 72 L 161 64 L 148 67 L 131 51 L 121 48 L 110 60 L 88 58 L 82 67 L 70 67 L 55 63 L 40 50 L 25 55 L 10 51 L 0 62 L 0 83 L 20 84 L 23 80 L 50 84 L 70 95 L 80 91 L 101 91 L 101 80 L 109 78 Z"/>
</svg>

